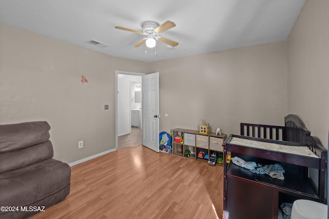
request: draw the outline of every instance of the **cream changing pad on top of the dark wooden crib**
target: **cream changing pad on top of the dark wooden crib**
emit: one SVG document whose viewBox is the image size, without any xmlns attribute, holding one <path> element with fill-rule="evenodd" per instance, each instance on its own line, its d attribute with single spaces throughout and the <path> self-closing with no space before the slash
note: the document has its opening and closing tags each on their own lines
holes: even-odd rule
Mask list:
<svg viewBox="0 0 329 219">
<path fill-rule="evenodd" d="M 239 137 L 232 137 L 229 144 L 242 145 L 242 146 L 251 147 L 251 148 L 278 151 L 278 152 L 282 152 L 282 153 L 298 154 L 298 155 L 302 155 L 302 156 L 319 158 L 319 156 L 317 156 L 315 153 L 313 153 L 306 146 L 289 146 L 289 145 L 275 144 L 275 143 L 269 143 L 269 142 L 254 141 L 254 140 L 249 140 L 249 139 L 239 138 Z"/>
</svg>

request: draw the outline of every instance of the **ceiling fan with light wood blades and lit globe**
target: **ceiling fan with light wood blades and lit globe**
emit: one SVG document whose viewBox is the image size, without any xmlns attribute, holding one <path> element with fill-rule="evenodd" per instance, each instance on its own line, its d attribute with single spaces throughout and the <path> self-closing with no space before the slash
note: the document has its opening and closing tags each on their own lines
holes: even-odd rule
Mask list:
<svg viewBox="0 0 329 219">
<path fill-rule="evenodd" d="M 137 44 L 135 44 L 134 47 L 140 47 L 143 43 L 145 43 L 147 47 L 153 48 L 153 47 L 155 47 L 156 41 L 160 41 L 160 42 L 168 44 L 172 47 L 175 47 L 178 45 L 177 42 L 172 41 L 171 39 L 167 39 L 167 38 L 158 36 L 159 33 L 175 27 L 176 24 L 174 22 L 166 21 L 165 23 L 159 25 L 157 22 L 145 21 L 145 22 L 141 23 L 141 26 L 142 26 L 142 31 L 132 30 L 132 29 L 120 27 L 120 26 L 116 26 L 115 28 L 120 29 L 120 30 L 134 32 L 134 33 L 139 33 L 141 35 L 147 36 L 147 37 L 141 39 L 141 41 L 139 41 Z"/>
</svg>

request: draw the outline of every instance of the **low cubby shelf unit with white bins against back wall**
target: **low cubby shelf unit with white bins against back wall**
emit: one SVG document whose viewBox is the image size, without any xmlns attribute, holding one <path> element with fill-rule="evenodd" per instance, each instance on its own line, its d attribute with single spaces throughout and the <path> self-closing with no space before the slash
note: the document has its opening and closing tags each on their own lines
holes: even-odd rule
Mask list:
<svg viewBox="0 0 329 219">
<path fill-rule="evenodd" d="M 175 136 L 183 136 L 183 143 L 175 142 Z M 178 156 L 184 156 L 185 151 L 189 149 L 191 155 L 188 158 L 193 160 L 200 160 L 208 162 L 204 158 L 198 158 L 197 154 L 199 151 L 205 152 L 205 154 L 210 154 L 212 152 L 223 153 L 223 141 L 225 141 L 226 134 L 216 135 L 215 133 L 201 134 L 197 130 L 190 129 L 173 129 L 172 130 L 173 143 L 172 143 L 172 153 Z"/>
</svg>

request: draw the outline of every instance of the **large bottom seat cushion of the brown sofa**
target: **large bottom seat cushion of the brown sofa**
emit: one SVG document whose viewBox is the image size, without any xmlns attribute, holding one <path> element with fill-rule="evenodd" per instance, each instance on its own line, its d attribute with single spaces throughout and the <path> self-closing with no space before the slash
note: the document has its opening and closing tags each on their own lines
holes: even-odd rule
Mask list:
<svg viewBox="0 0 329 219">
<path fill-rule="evenodd" d="M 49 159 L 0 174 L 0 206 L 26 206 L 70 185 L 68 164 Z"/>
</svg>

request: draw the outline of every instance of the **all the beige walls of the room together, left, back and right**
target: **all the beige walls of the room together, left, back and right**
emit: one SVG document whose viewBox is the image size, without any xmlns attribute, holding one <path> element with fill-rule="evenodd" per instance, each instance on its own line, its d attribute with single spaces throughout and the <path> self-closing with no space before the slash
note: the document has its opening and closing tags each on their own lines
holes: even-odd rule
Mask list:
<svg viewBox="0 0 329 219">
<path fill-rule="evenodd" d="M 294 113 L 326 147 L 328 4 L 307 1 L 287 42 L 149 64 L 1 25 L 0 124 L 48 121 L 54 157 L 68 163 L 113 149 L 115 70 L 158 71 L 160 131 L 205 119 L 239 134 L 241 122 L 284 125 Z"/>
</svg>

